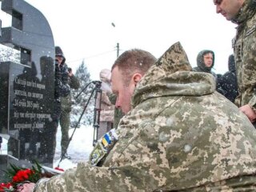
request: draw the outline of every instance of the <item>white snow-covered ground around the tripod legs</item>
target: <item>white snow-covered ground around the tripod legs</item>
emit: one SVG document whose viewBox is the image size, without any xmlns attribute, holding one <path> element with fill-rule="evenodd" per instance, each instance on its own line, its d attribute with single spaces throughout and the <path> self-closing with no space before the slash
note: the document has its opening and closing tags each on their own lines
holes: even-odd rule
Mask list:
<svg viewBox="0 0 256 192">
<path fill-rule="evenodd" d="M 72 168 L 77 166 L 78 162 L 86 162 L 89 158 L 90 151 L 93 149 L 93 134 L 94 128 L 93 126 L 80 126 L 75 131 L 74 129 L 70 129 L 70 136 L 73 134 L 73 138 L 70 142 L 70 146 L 67 150 L 67 154 L 70 155 L 71 159 L 63 159 L 62 162 L 59 163 L 61 156 L 61 137 L 62 131 L 60 126 L 58 126 L 58 132 L 56 136 L 57 145 L 54 156 L 54 167 L 58 166 L 66 170 L 68 168 Z M 3 139 L 2 141 L 2 149 L 0 154 L 7 154 L 7 140 Z"/>
</svg>

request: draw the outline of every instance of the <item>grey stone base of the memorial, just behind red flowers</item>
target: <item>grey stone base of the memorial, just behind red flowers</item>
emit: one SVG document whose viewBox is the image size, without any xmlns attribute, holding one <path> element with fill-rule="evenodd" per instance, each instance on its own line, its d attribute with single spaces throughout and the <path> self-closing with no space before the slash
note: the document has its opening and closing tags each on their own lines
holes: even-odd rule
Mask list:
<svg viewBox="0 0 256 192">
<path fill-rule="evenodd" d="M 4 181 L 4 170 L 6 170 L 7 167 L 10 167 L 10 164 L 24 168 L 32 167 L 30 162 L 26 162 L 25 160 L 18 160 L 18 158 L 14 158 L 9 154 L 0 154 L 0 181 Z"/>
</svg>

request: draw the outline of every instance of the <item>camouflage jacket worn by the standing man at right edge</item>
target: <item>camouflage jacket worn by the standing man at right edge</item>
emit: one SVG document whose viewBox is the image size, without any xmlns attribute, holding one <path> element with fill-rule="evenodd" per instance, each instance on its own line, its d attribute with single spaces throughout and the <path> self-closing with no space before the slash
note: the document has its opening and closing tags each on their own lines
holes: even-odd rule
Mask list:
<svg viewBox="0 0 256 192">
<path fill-rule="evenodd" d="M 238 23 L 234 58 L 238 76 L 238 106 L 250 104 L 256 110 L 256 2 L 246 0 L 233 22 Z"/>
</svg>

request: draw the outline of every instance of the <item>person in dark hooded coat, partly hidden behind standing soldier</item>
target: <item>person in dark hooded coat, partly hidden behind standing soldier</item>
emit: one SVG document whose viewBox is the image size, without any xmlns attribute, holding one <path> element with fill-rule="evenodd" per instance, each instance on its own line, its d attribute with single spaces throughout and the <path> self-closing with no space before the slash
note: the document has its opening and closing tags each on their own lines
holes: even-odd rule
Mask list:
<svg viewBox="0 0 256 192">
<path fill-rule="evenodd" d="M 229 71 L 222 75 L 218 80 L 218 92 L 223 94 L 230 102 L 238 96 L 238 81 L 235 70 L 234 54 L 229 56 Z"/>
</svg>

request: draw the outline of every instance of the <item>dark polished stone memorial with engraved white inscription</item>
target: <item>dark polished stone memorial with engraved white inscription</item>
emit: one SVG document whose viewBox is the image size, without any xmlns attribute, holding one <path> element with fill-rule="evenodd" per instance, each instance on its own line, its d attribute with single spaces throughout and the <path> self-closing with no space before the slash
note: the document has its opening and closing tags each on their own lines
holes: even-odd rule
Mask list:
<svg viewBox="0 0 256 192">
<path fill-rule="evenodd" d="M 0 43 L 18 50 L 20 62 L 0 62 L 0 134 L 9 138 L 8 155 L 49 166 L 55 141 L 42 138 L 53 126 L 54 38 L 46 18 L 27 2 L 2 0 L 2 10 L 12 26 L 0 30 Z"/>
</svg>

